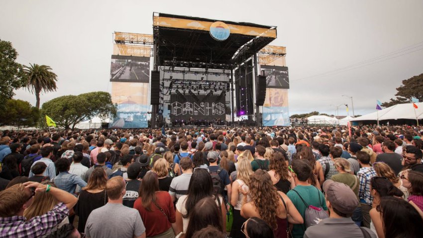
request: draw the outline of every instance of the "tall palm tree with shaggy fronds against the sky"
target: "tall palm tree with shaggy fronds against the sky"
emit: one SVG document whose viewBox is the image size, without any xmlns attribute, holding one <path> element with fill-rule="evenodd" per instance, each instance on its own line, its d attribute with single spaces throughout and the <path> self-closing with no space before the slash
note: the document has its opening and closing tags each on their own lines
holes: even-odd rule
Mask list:
<svg viewBox="0 0 423 238">
<path fill-rule="evenodd" d="M 23 71 L 28 80 L 26 88 L 29 92 L 35 93 L 35 98 L 37 99 L 35 107 L 39 109 L 41 91 L 44 93 L 56 91 L 57 75 L 51 71 L 50 66 L 37 64 L 29 65 L 30 67 L 26 65 L 23 66 Z"/>
</svg>

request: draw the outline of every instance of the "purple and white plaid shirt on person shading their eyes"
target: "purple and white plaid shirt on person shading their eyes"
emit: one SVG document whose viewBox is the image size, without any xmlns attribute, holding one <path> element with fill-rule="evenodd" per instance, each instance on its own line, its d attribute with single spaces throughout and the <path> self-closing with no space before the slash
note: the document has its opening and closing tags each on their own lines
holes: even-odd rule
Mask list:
<svg viewBox="0 0 423 238">
<path fill-rule="evenodd" d="M 48 234 L 68 215 L 69 209 L 64 203 L 59 203 L 46 214 L 28 221 L 23 216 L 0 218 L 0 237 L 41 237 Z"/>
</svg>

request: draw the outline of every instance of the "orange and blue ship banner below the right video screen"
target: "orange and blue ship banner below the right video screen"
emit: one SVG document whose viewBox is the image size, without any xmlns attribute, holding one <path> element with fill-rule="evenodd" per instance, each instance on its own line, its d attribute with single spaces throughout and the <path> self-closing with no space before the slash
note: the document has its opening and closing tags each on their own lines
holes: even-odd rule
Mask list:
<svg viewBox="0 0 423 238">
<path fill-rule="evenodd" d="M 288 126 L 289 122 L 288 90 L 268 88 L 263 104 L 263 125 Z"/>
</svg>

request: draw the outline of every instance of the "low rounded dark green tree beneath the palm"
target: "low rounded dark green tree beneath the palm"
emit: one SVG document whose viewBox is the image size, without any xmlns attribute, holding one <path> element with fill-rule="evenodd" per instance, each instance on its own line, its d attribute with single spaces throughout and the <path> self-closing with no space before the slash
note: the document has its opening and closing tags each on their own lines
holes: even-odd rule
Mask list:
<svg viewBox="0 0 423 238">
<path fill-rule="evenodd" d="M 0 114 L 0 125 L 34 126 L 39 117 L 39 110 L 29 102 L 9 99 Z"/>
</svg>

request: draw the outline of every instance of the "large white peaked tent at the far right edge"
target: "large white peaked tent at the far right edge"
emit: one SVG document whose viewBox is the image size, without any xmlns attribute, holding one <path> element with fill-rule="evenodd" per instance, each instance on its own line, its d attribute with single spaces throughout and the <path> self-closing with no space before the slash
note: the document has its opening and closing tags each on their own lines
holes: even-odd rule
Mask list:
<svg viewBox="0 0 423 238">
<path fill-rule="evenodd" d="M 379 110 L 351 120 L 390 120 L 390 119 L 423 119 L 423 103 L 416 104 L 415 108 L 412 103 L 397 104 L 389 108 Z"/>
</svg>

